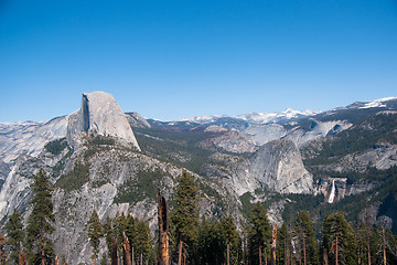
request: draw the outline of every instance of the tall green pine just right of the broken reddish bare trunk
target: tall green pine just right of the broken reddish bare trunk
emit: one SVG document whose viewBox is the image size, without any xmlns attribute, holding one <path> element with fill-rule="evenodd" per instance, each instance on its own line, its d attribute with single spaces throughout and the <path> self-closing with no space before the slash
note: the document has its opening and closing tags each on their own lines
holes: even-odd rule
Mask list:
<svg viewBox="0 0 397 265">
<path fill-rule="evenodd" d="M 193 251 L 198 235 L 197 188 L 194 179 L 186 171 L 178 180 L 175 192 L 176 206 L 171 215 L 174 236 L 179 242 L 179 265 L 182 263 L 182 246 L 186 244 Z M 191 255 L 194 256 L 194 255 Z"/>
</svg>

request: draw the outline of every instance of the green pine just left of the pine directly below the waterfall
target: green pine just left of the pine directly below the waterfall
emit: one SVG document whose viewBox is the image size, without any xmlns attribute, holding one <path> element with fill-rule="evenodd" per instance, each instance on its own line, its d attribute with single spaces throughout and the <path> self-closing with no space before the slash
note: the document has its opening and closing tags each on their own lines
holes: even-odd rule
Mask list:
<svg viewBox="0 0 397 265">
<path fill-rule="evenodd" d="M 313 222 L 307 211 L 301 211 L 294 223 L 294 233 L 298 241 L 300 264 L 318 263 L 318 244 L 315 240 Z"/>
</svg>

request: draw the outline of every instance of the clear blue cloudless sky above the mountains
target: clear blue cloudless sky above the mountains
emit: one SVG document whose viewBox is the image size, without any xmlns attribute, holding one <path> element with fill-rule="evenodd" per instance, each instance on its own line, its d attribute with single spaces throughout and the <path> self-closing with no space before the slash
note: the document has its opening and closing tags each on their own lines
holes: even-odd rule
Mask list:
<svg viewBox="0 0 397 265">
<path fill-rule="evenodd" d="M 0 0 L 0 121 L 180 117 L 397 96 L 396 0 Z"/>
</svg>

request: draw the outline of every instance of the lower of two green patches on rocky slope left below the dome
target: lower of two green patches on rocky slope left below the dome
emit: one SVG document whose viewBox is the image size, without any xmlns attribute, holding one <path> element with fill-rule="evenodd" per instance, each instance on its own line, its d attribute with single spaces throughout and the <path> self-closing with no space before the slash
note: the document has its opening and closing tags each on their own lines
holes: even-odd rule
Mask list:
<svg viewBox="0 0 397 265">
<path fill-rule="evenodd" d="M 82 188 L 88 182 L 89 178 L 89 163 L 76 162 L 73 170 L 68 173 L 61 176 L 55 186 L 64 189 L 65 191 L 74 191 Z"/>
</svg>

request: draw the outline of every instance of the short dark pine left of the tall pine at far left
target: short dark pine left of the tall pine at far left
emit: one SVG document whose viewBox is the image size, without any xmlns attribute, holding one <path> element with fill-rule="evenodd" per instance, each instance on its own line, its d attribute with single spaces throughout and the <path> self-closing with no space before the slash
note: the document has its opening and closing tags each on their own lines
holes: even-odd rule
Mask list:
<svg viewBox="0 0 397 265">
<path fill-rule="evenodd" d="M 13 213 L 9 216 L 9 221 L 4 225 L 4 230 L 9 237 L 8 245 L 10 246 L 10 259 L 14 264 L 19 264 L 19 255 L 24 241 L 24 232 L 22 224 L 22 216 L 14 209 Z"/>
</svg>

